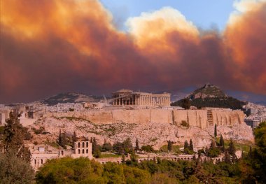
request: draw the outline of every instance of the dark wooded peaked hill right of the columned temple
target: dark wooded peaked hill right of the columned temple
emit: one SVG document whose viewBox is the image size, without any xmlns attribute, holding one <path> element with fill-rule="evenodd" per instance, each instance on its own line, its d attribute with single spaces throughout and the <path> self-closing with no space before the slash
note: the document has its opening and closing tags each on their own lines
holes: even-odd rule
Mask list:
<svg viewBox="0 0 266 184">
<path fill-rule="evenodd" d="M 231 108 L 241 109 L 246 102 L 240 101 L 233 97 L 228 97 L 223 90 L 216 85 L 204 85 L 194 92 L 190 93 L 185 99 L 180 99 L 172 103 L 172 106 L 196 106 L 202 107 L 215 107 L 215 108 Z"/>
</svg>

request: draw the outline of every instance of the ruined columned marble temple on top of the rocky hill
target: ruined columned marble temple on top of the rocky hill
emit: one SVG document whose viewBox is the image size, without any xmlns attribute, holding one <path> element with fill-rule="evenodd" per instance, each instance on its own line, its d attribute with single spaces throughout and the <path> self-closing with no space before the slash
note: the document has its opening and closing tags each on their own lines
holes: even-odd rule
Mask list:
<svg viewBox="0 0 266 184">
<path fill-rule="evenodd" d="M 171 94 L 153 94 L 148 92 L 133 92 L 118 90 L 113 92 L 113 106 L 170 106 Z"/>
</svg>

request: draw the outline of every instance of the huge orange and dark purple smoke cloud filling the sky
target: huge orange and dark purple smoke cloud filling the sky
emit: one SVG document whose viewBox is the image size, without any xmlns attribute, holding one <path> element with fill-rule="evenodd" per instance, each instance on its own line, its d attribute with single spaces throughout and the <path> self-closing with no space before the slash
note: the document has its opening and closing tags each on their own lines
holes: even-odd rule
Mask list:
<svg viewBox="0 0 266 184">
<path fill-rule="evenodd" d="M 1 0 L 0 104 L 206 82 L 266 94 L 266 3 L 245 3 L 221 34 L 170 7 L 130 18 L 123 32 L 96 0 Z"/>
</svg>

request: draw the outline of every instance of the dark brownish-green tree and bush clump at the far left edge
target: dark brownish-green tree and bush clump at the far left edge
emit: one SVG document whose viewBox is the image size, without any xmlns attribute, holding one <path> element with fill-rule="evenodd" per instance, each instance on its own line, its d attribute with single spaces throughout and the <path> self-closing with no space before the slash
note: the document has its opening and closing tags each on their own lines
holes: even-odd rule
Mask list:
<svg viewBox="0 0 266 184">
<path fill-rule="evenodd" d="M 30 134 L 22 127 L 18 115 L 10 113 L 0 136 L 0 183 L 33 183 L 34 170 L 29 164 L 30 153 L 24 140 Z"/>
</svg>

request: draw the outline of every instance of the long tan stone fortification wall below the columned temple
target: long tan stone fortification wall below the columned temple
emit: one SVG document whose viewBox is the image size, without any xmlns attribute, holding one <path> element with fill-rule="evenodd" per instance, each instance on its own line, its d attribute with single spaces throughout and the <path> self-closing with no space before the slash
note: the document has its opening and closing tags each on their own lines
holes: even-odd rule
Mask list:
<svg viewBox="0 0 266 184">
<path fill-rule="evenodd" d="M 209 113 L 209 116 L 208 116 Z M 117 122 L 126 123 L 172 123 L 180 126 L 186 121 L 192 127 L 205 129 L 217 125 L 237 125 L 244 122 L 242 111 L 222 110 L 170 110 L 170 109 L 136 109 L 136 110 L 99 110 L 67 113 L 48 113 L 48 117 L 75 117 L 90 120 L 96 124 Z"/>
</svg>

